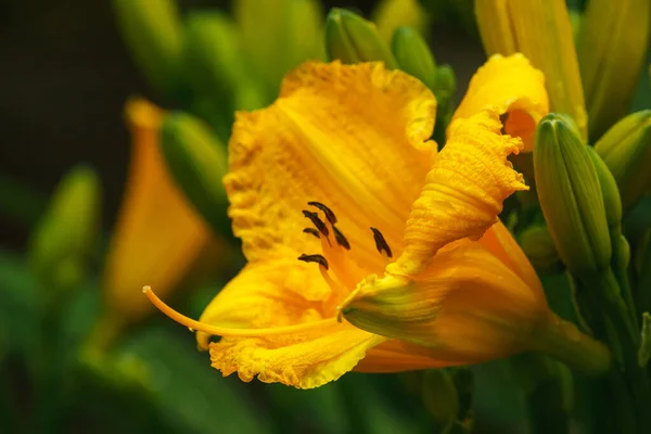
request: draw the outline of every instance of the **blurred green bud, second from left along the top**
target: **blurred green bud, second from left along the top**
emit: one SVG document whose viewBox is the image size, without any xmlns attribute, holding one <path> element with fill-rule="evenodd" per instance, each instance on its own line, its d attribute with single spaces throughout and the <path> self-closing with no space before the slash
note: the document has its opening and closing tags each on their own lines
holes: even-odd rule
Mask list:
<svg viewBox="0 0 651 434">
<path fill-rule="evenodd" d="M 192 108 L 222 140 L 233 124 L 233 89 L 246 77 L 235 24 L 219 11 L 190 12 L 184 22 L 183 72 Z"/>
</svg>

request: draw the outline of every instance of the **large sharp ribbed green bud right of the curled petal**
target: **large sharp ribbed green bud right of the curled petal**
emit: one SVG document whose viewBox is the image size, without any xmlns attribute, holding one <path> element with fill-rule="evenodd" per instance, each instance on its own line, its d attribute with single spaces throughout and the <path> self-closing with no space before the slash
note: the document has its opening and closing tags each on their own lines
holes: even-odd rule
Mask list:
<svg viewBox="0 0 651 434">
<path fill-rule="evenodd" d="M 572 120 L 549 114 L 536 131 L 538 199 L 559 255 L 575 273 L 609 267 L 611 242 L 595 165 Z"/>
</svg>

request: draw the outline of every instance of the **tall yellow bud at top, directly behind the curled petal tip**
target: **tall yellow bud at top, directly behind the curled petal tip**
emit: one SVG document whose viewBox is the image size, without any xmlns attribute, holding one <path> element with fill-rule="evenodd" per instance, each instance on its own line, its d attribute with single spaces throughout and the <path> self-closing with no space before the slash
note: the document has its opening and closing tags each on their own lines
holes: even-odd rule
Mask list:
<svg viewBox="0 0 651 434">
<path fill-rule="evenodd" d="M 551 111 L 570 114 L 582 137 L 587 115 L 565 0 L 475 0 L 484 49 L 523 53 L 545 74 Z"/>
</svg>

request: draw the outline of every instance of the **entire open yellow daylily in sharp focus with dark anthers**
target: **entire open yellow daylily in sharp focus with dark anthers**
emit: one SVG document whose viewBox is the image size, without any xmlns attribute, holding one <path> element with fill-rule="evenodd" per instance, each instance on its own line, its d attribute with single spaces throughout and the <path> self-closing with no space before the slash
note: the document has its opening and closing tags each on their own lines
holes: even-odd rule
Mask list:
<svg viewBox="0 0 651 434">
<path fill-rule="evenodd" d="M 474 86 L 500 82 L 513 62 L 525 61 L 490 59 Z M 197 331 L 213 367 L 244 381 L 309 388 L 353 369 L 586 346 L 600 355 L 588 367 L 604 369 L 608 350 L 549 310 L 497 218 L 505 197 L 526 189 L 507 161 L 522 141 L 500 123 L 514 101 L 537 99 L 526 92 L 540 76 L 521 66 L 512 77 L 531 86 L 507 100 L 495 89 L 474 113 L 465 105 L 437 153 L 436 101 L 416 78 L 382 63 L 302 65 L 270 107 L 239 113 L 233 127 L 225 184 L 248 264 L 200 321 L 144 293 Z"/>
</svg>

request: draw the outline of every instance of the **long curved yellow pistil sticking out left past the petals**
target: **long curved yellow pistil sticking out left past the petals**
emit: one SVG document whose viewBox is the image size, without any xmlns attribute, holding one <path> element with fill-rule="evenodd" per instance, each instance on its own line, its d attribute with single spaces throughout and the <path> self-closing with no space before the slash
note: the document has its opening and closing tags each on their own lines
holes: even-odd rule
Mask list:
<svg viewBox="0 0 651 434">
<path fill-rule="evenodd" d="M 203 332 L 214 336 L 231 336 L 231 337 L 264 337 L 264 336 L 278 336 L 281 334 L 291 333 L 304 333 L 307 331 L 321 331 L 323 327 L 336 324 L 336 318 L 328 318 L 320 321 L 306 322 L 296 326 L 284 326 L 276 327 L 271 329 L 229 329 L 224 327 L 216 327 L 206 324 L 200 321 L 195 321 L 192 318 L 188 318 L 182 314 L 174 310 L 167 306 L 161 298 L 154 294 L 151 286 L 144 286 L 142 292 L 152 302 L 154 306 L 163 314 L 168 316 L 181 326 L 186 326 L 197 332 Z"/>
</svg>

